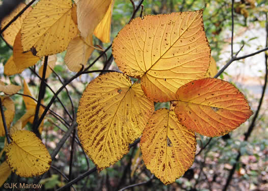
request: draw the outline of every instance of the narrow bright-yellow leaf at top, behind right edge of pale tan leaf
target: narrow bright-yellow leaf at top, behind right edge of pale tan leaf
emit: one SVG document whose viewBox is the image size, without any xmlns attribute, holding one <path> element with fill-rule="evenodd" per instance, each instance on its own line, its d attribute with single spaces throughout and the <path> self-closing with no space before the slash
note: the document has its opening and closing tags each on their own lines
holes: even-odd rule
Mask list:
<svg viewBox="0 0 268 191">
<path fill-rule="evenodd" d="M 94 35 L 102 42 L 106 43 L 110 42 L 111 21 L 112 21 L 114 4 L 115 0 L 112 0 L 104 17 L 94 30 Z"/>
</svg>

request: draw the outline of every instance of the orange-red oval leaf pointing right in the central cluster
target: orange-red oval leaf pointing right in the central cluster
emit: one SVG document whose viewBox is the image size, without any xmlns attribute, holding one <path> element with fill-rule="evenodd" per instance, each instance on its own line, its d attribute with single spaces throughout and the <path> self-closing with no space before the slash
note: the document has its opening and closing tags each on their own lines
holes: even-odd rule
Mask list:
<svg viewBox="0 0 268 191">
<path fill-rule="evenodd" d="M 176 96 L 179 121 L 208 137 L 232 131 L 253 114 L 245 96 L 221 79 L 193 80 L 180 87 Z"/>
</svg>

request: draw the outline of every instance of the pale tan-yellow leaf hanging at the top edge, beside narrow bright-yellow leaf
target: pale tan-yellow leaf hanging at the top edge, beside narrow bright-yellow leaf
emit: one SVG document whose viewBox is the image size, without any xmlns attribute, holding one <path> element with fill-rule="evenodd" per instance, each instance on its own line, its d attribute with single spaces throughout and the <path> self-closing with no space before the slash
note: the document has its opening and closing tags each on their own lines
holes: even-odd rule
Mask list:
<svg viewBox="0 0 268 191">
<path fill-rule="evenodd" d="M 82 37 L 93 34 L 94 29 L 108 11 L 112 0 L 74 0 L 77 5 L 77 23 Z"/>
</svg>

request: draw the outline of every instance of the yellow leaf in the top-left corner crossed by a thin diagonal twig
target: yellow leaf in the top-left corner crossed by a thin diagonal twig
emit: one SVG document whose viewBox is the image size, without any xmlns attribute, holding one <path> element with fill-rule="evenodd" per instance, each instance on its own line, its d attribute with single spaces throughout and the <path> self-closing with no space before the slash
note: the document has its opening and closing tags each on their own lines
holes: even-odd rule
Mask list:
<svg viewBox="0 0 268 191">
<path fill-rule="evenodd" d="M 11 12 L 7 17 L 5 17 L 1 22 L 1 29 L 3 29 L 26 5 L 24 3 L 21 3 L 17 6 L 15 10 Z M 26 17 L 26 15 L 29 14 L 29 12 L 32 10 L 32 7 L 29 7 L 26 9 L 22 15 L 20 15 L 14 22 L 12 22 L 11 25 L 2 33 L 4 39 L 9 43 L 11 46 L 13 46 L 15 38 L 21 29 L 21 24 Z"/>
</svg>

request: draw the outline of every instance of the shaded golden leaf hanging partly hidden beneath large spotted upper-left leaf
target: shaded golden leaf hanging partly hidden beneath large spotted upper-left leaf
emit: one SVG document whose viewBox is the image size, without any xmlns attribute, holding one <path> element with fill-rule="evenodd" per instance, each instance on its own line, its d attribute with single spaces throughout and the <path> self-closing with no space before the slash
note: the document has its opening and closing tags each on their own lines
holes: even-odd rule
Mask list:
<svg viewBox="0 0 268 191">
<path fill-rule="evenodd" d="M 13 46 L 13 60 L 15 62 L 16 67 L 20 70 L 24 70 L 30 66 L 35 65 L 40 58 L 33 55 L 31 51 L 24 52 L 21 46 L 21 33 L 18 32 L 14 46 Z"/>
</svg>

